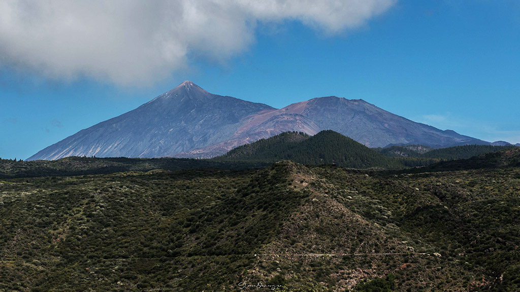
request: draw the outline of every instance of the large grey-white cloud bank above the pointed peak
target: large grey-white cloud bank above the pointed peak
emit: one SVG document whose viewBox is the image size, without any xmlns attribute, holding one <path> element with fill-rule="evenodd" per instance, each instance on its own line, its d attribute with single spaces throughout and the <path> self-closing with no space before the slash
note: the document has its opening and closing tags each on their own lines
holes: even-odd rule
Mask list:
<svg viewBox="0 0 520 292">
<path fill-rule="evenodd" d="M 190 58 L 225 61 L 239 54 L 254 42 L 259 23 L 294 20 L 333 35 L 396 1 L 6 0 L 0 2 L 0 65 L 140 86 L 186 68 Z"/>
</svg>

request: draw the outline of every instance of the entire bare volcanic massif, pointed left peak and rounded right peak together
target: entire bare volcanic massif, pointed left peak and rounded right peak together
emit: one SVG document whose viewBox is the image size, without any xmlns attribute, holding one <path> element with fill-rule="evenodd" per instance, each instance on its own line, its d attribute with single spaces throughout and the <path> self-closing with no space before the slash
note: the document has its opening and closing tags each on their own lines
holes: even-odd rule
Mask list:
<svg viewBox="0 0 520 292">
<path fill-rule="evenodd" d="M 83 129 L 29 157 L 213 157 L 285 131 L 334 130 L 368 147 L 423 144 L 440 148 L 489 142 L 439 130 L 361 99 L 322 97 L 275 109 L 219 96 L 190 81 L 135 110 Z"/>
</svg>

